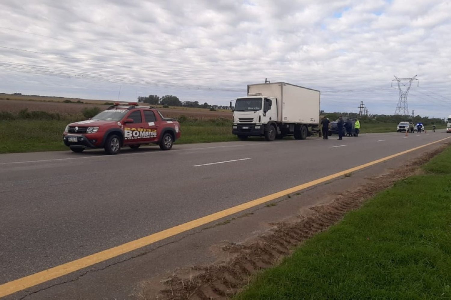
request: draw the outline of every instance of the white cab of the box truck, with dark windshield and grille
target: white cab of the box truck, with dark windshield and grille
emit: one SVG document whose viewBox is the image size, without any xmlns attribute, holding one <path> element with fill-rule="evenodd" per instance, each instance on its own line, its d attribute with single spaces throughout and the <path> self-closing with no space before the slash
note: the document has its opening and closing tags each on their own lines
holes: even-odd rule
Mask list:
<svg viewBox="0 0 451 300">
<path fill-rule="evenodd" d="M 232 133 L 239 139 L 262 136 L 268 124 L 277 120 L 277 101 L 262 95 L 240 97 L 235 100 Z M 271 133 L 271 135 L 276 132 Z M 271 136 L 272 137 L 272 136 Z"/>
</svg>

